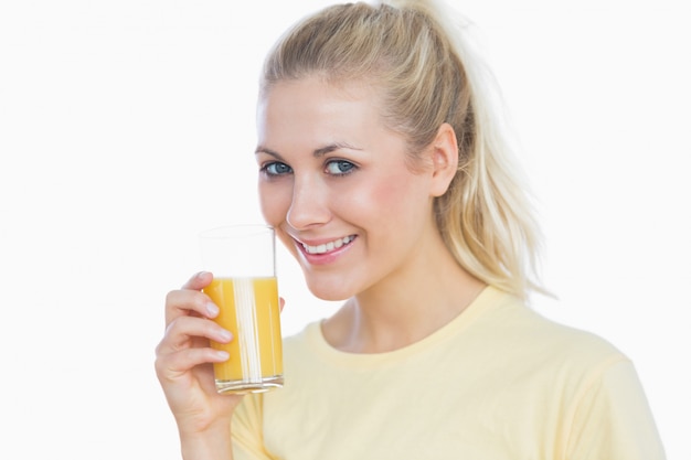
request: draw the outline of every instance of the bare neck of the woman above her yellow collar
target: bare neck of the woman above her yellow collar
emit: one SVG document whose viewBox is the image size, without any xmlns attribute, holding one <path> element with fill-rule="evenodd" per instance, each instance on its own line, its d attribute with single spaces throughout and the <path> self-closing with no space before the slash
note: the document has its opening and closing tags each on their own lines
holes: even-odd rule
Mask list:
<svg viewBox="0 0 691 460">
<path fill-rule="evenodd" d="M 326 340 L 351 353 L 397 350 L 446 325 L 483 289 L 485 284 L 456 263 L 440 238 L 421 254 L 427 260 L 408 264 L 325 321 Z"/>
</svg>

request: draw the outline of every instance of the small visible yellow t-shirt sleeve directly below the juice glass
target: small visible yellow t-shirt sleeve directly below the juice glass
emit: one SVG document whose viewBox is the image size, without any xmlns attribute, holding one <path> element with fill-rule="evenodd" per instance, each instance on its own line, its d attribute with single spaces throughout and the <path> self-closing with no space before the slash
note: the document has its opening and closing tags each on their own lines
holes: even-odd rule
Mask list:
<svg viewBox="0 0 691 460">
<path fill-rule="evenodd" d="M 262 395 L 247 395 L 233 414 L 234 460 L 273 460 L 264 448 Z"/>
</svg>

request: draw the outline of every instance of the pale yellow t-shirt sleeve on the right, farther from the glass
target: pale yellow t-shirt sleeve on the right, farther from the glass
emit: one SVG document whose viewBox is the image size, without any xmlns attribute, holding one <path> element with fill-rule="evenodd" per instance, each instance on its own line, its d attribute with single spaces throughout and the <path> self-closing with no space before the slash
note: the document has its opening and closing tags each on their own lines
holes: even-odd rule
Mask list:
<svg viewBox="0 0 691 460">
<path fill-rule="evenodd" d="M 572 460 L 663 460 L 648 400 L 630 361 L 608 364 L 578 399 L 567 454 Z"/>
</svg>

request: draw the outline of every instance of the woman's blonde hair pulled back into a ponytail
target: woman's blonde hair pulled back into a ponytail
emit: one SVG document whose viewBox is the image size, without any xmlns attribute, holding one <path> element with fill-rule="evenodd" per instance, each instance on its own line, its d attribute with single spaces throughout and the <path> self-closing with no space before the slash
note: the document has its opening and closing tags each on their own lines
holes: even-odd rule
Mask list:
<svg viewBox="0 0 691 460">
<path fill-rule="evenodd" d="M 366 81 L 383 93 L 383 118 L 414 159 L 448 122 L 459 168 L 436 199 L 439 232 L 468 272 L 523 299 L 538 282 L 540 234 L 511 162 L 491 82 L 464 40 L 463 24 L 433 1 L 328 7 L 296 24 L 266 58 L 262 95 L 277 82 L 320 75 Z"/>
</svg>

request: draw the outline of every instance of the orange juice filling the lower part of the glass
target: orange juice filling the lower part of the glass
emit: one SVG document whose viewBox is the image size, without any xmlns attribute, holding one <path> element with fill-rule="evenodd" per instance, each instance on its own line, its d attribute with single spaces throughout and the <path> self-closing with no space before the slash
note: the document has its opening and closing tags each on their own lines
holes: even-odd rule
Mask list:
<svg viewBox="0 0 691 460">
<path fill-rule="evenodd" d="M 219 392 L 262 392 L 283 386 L 276 278 L 216 278 L 204 292 L 221 310 L 215 321 L 233 333 L 227 344 L 211 342 L 211 346 L 231 356 L 224 363 L 214 363 Z"/>
</svg>

